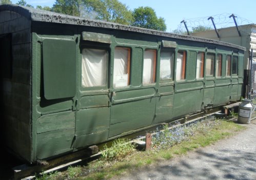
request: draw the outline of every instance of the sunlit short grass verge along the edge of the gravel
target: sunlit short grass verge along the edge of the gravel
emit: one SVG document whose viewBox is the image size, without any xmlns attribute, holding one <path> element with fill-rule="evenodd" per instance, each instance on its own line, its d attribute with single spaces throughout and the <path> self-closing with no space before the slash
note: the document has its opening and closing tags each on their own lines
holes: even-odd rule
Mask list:
<svg viewBox="0 0 256 180">
<path fill-rule="evenodd" d="M 212 123 L 213 122 L 213 123 Z M 78 166 L 77 169 L 67 170 L 61 175 L 52 176 L 53 178 L 43 179 L 109 179 L 114 176 L 120 176 L 129 171 L 136 171 L 146 166 L 157 165 L 159 162 L 170 160 L 173 157 L 187 154 L 189 151 L 193 151 L 200 147 L 206 147 L 214 144 L 220 139 L 227 138 L 246 127 L 239 124 L 235 124 L 232 121 L 211 121 L 210 123 L 194 124 L 189 128 L 178 129 L 178 131 L 172 131 L 170 134 L 166 129 L 164 130 L 164 136 L 161 136 L 161 141 L 171 139 L 172 145 L 166 144 L 163 148 L 152 148 L 151 151 L 131 151 L 129 146 L 129 152 L 127 155 L 122 154 L 122 158 L 116 158 L 111 160 L 108 155 L 107 158 L 96 159 L 93 162 L 88 163 L 87 166 Z M 178 138 L 177 134 L 182 134 L 185 137 Z M 124 140 L 122 140 L 123 142 Z M 119 151 L 120 148 L 115 144 L 114 150 L 108 149 L 110 154 L 112 151 Z M 122 151 L 123 152 L 123 151 Z M 73 175 L 71 175 L 73 174 Z M 72 177 L 71 177 L 72 176 Z"/>
</svg>

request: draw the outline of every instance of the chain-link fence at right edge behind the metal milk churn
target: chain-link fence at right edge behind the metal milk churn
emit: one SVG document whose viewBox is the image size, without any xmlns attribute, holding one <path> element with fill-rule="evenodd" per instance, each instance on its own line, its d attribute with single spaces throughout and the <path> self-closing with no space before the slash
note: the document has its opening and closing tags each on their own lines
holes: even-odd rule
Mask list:
<svg viewBox="0 0 256 180">
<path fill-rule="evenodd" d="M 249 63 L 248 98 L 253 106 L 251 119 L 256 119 L 256 48 L 250 49 Z"/>
</svg>

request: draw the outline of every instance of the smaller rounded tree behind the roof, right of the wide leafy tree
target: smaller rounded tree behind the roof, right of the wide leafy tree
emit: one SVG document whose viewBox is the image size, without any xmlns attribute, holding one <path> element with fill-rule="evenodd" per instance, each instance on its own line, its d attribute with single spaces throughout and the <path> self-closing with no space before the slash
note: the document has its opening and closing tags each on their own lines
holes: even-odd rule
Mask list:
<svg viewBox="0 0 256 180">
<path fill-rule="evenodd" d="M 166 31 L 165 19 L 157 17 L 154 9 L 150 7 L 139 7 L 133 10 L 133 26 Z"/>
</svg>

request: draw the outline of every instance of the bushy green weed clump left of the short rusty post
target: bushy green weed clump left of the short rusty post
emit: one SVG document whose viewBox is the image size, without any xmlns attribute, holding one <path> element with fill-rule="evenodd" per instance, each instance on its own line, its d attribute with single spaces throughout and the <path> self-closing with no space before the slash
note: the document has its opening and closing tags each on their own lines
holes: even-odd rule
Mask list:
<svg viewBox="0 0 256 180">
<path fill-rule="evenodd" d="M 134 151 L 135 145 L 131 144 L 128 139 L 119 138 L 113 141 L 110 148 L 107 145 L 104 146 L 102 152 L 102 158 L 107 161 L 121 160 L 125 156 L 131 154 Z"/>
</svg>

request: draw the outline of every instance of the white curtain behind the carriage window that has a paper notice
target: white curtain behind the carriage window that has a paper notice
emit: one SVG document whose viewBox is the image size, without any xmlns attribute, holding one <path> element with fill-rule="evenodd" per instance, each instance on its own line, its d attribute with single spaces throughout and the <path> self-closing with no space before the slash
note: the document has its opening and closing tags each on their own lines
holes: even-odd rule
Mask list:
<svg viewBox="0 0 256 180">
<path fill-rule="evenodd" d="M 127 74 L 128 63 L 128 49 L 127 48 L 115 48 L 114 53 L 114 75 L 113 86 L 116 87 L 116 76 Z M 127 81 L 128 85 L 128 81 Z"/>
</svg>

